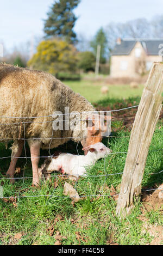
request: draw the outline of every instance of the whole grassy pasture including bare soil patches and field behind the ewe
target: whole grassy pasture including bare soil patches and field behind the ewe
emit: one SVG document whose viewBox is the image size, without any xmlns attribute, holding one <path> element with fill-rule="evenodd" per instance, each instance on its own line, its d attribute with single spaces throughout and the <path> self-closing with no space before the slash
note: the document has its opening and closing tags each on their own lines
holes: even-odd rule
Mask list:
<svg viewBox="0 0 163 256">
<path fill-rule="evenodd" d="M 100 95 L 98 86 L 86 86 L 85 83 L 66 83 L 72 89 L 95 102 L 98 110 L 120 109 L 139 104 L 141 92 L 124 91 L 110 87 L 111 96 Z M 142 89 L 142 88 L 141 88 Z M 112 90 L 112 91 L 111 91 Z M 130 90 L 130 89 L 129 89 Z M 109 93 L 110 94 L 110 93 Z M 135 95 L 135 97 L 133 97 Z M 128 97 L 130 96 L 130 97 Z M 123 99 L 126 98 L 126 100 Z M 100 100 L 97 102 L 97 100 Z M 78 182 L 67 180 L 58 173 L 53 173 L 52 182 L 32 187 L 32 168 L 30 161 L 18 160 L 21 173 L 29 179 L 18 179 L 14 185 L 5 178 L 10 159 L 1 159 L 1 184 L 3 196 L 0 199 L 0 244 L 1 245 L 153 245 L 163 244 L 162 205 L 153 191 L 163 182 L 162 148 L 163 127 L 159 120 L 147 157 L 145 174 L 142 181 L 142 197 L 134 210 L 124 220 L 115 215 L 117 194 L 120 190 L 122 172 L 126 161 L 129 136 L 136 108 L 119 112 L 112 121 L 112 137 L 104 138 L 103 143 L 112 149 L 111 155 L 97 161 L 95 166 L 87 168 L 87 177 Z M 70 142 L 59 149 L 77 153 L 77 144 Z M 79 154 L 82 153 L 78 145 Z M 53 153 L 52 150 L 51 153 Z M 120 153 L 120 154 L 114 154 Z M 0 144 L 1 157 L 10 156 L 10 150 Z M 24 154 L 24 153 L 23 153 Z M 48 155 L 41 151 L 41 155 Z M 27 156 L 29 149 L 27 147 Z M 24 167 L 24 164 L 26 166 Z M 118 174 L 116 174 L 118 173 Z M 153 174 L 152 173 L 159 173 Z M 108 176 L 105 176 L 105 175 Z M 116 174 L 116 175 L 109 175 Z M 55 176 L 59 175 L 59 176 Z M 101 176 L 99 176 L 101 175 Z M 82 197 L 73 203 L 63 194 L 65 181 L 72 184 Z M 93 196 L 92 196 L 93 195 Z M 12 196 L 12 198 L 11 198 Z M 20 198 L 16 198 L 19 196 Z"/>
</svg>

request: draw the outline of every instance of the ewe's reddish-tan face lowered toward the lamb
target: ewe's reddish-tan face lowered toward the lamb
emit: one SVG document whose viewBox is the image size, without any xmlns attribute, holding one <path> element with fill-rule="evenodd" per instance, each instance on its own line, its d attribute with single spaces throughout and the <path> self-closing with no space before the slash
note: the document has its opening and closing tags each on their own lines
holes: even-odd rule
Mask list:
<svg viewBox="0 0 163 256">
<path fill-rule="evenodd" d="M 86 118 L 86 136 L 81 141 L 83 148 L 101 142 L 103 136 L 109 136 L 110 119 L 110 115 L 99 116 L 98 114 Z M 86 155 L 87 152 L 85 149 L 84 154 Z"/>
</svg>

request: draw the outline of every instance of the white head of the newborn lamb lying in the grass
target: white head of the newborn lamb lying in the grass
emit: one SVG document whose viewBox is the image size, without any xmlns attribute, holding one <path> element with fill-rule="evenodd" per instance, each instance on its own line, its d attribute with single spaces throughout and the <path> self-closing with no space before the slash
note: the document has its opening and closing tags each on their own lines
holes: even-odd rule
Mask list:
<svg viewBox="0 0 163 256">
<path fill-rule="evenodd" d="M 106 155 L 109 155 L 112 150 L 107 148 L 102 142 L 95 143 L 83 148 L 84 151 L 90 151 L 96 155 L 96 159 L 104 158 Z"/>
</svg>

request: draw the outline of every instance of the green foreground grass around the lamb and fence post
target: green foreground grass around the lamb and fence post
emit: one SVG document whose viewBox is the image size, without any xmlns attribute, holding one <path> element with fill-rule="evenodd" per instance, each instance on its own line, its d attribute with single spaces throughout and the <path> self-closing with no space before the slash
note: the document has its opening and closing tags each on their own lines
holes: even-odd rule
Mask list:
<svg viewBox="0 0 163 256">
<path fill-rule="evenodd" d="M 142 186 L 153 186 L 163 181 L 163 174 L 149 175 L 163 169 L 162 150 L 163 138 L 159 129 L 154 133 Z M 120 130 L 117 136 L 128 136 L 130 133 Z M 111 138 L 103 141 L 113 153 L 127 152 L 129 137 Z M 1 144 L 1 151 L 5 151 Z M 2 153 L 2 152 L 1 152 Z M 3 153 L 4 154 L 4 153 Z M 95 166 L 87 168 L 88 175 L 104 175 L 123 172 L 126 154 L 112 154 L 106 159 L 99 160 Z M 21 163 L 23 166 L 23 162 Z M 26 167 L 26 176 L 32 176 L 30 164 Z M 55 178 L 51 183 L 42 184 L 40 188 L 31 187 L 31 179 L 18 180 L 14 185 L 8 180 L 1 179 L 4 188 L 4 197 L 27 196 L 17 199 L 16 207 L 12 202 L 0 201 L 0 241 L 3 245 L 53 245 L 56 231 L 64 237 L 60 240 L 62 245 L 105 245 L 108 242 L 120 245 L 145 245 L 152 241 L 148 232 L 143 232 L 144 222 L 140 220 L 141 203 L 125 219 L 120 220 L 115 215 L 116 202 L 110 197 L 111 185 L 116 188 L 121 183 L 122 175 L 80 178 L 76 187 L 80 196 L 103 194 L 104 197 L 86 197 L 78 203 L 71 204 L 71 199 L 65 197 L 63 186 L 65 180 L 57 179 L 58 187 L 54 189 Z M 118 188 L 117 188 L 118 192 Z M 51 195 L 54 197 L 28 197 Z M 61 198 L 60 198 L 61 197 Z M 61 220 L 54 222 L 57 216 Z M 147 223 L 154 225 L 162 223 L 161 210 L 146 214 Z M 49 236 L 47 228 L 53 226 L 54 235 Z M 17 233 L 23 233 L 21 239 L 14 239 Z M 78 238 L 77 233 L 80 235 Z"/>
</svg>

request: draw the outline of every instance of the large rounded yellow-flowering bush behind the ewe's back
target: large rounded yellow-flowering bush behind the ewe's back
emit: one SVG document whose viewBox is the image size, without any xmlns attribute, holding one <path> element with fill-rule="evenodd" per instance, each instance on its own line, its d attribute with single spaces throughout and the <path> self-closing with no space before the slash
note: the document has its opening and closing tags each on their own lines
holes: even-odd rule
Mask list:
<svg viewBox="0 0 163 256">
<path fill-rule="evenodd" d="M 28 66 L 57 75 L 58 72 L 76 72 L 77 61 L 77 50 L 73 45 L 53 39 L 40 42 Z"/>
</svg>

